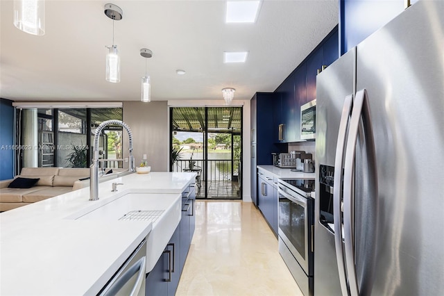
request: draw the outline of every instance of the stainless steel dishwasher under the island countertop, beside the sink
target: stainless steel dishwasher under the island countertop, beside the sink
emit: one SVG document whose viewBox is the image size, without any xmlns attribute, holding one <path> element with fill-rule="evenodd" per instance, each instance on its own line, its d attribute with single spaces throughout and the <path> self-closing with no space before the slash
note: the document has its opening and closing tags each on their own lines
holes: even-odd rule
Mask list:
<svg viewBox="0 0 444 296">
<path fill-rule="evenodd" d="M 108 281 L 99 295 L 145 295 L 146 240 Z"/>
</svg>

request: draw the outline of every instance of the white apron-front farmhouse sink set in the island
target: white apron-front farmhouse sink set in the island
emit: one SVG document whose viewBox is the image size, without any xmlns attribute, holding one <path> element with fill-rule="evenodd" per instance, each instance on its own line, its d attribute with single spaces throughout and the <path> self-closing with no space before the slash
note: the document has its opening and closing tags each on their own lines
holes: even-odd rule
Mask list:
<svg viewBox="0 0 444 296">
<path fill-rule="evenodd" d="M 146 273 L 151 272 L 180 222 L 181 195 L 128 192 L 109 200 L 101 201 L 106 203 L 72 218 L 115 221 L 133 211 L 160 211 L 153 222 L 153 229 L 146 237 Z"/>
</svg>

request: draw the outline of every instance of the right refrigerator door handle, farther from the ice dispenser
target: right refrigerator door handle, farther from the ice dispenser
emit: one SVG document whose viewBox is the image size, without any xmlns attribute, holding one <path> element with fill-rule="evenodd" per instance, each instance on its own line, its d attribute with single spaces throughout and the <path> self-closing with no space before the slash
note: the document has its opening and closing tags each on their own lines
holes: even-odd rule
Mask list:
<svg viewBox="0 0 444 296">
<path fill-rule="evenodd" d="M 366 90 L 359 90 L 359 92 L 356 93 L 352 117 L 350 119 L 350 129 L 348 131 L 347 148 L 345 150 L 343 183 L 344 245 L 345 264 L 347 266 L 348 283 L 351 295 L 359 295 L 355 264 L 355 199 L 352 198 L 355 192 L 355 157 L 359 131 L 363 133 L 362 136 L 365 138 L 364 145 L 366 149 L 366 158 L 368 159 L 368 176 L 373 181 L 372 186 L 368 186 L 368 190 L 371 191 L 371 198 L 372 196 L 375 197 L 375 195 L 377 195 L 377 176 L 375 164 L 375 141 L 373 138 Z M 375 225 L 374 229 L 377 229 L 377 225 Z M 370 238 L 370 240 L 373 239 Z M 372 267 L 373 264 L 369 262 L 367 268 Z"/>
</svg>

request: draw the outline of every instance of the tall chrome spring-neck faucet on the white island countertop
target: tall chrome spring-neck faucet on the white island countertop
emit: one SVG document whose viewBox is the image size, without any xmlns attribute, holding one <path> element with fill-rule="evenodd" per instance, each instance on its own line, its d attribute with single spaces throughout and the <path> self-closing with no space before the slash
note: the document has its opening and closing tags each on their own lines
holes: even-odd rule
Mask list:
<svg viewBox="0 0 444 296">
<path fill-rule="evenodd" d="M 99 136 L 105 126 L 110 124 L 118 124 L 119 126 L 123 126 L 128 132 L 128 137 L 130 138 L 128 148 L 130 150 L 130 156 L 128 157 L 128 171 L 135 172 L 133 157 L 133 133 L 131 132 L 130 127 L 125 122 L 120 120 L 107 120 L 102 122 L 94 133 L 94 146 L 92 150 L 94 153 L 94 158 L 92 159 L 92 165 L 89 167 L 91 174 L 89 177 L 89 200 L 92 201 L 99 199 Z"/>
</svg>

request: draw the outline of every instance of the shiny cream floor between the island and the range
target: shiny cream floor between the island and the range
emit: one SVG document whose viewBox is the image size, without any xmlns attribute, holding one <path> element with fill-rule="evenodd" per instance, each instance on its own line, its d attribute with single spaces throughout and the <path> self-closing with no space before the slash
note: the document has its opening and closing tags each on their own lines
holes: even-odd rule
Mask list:
<svg viewBox="0 0 444 296">
<path fill-rule="evenodd" d="M 196 201 L 196 231 L 177 296 L 302 295 L 253 203 Z"/>
</svg>

